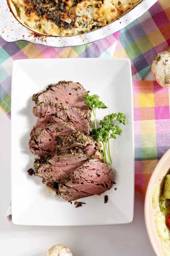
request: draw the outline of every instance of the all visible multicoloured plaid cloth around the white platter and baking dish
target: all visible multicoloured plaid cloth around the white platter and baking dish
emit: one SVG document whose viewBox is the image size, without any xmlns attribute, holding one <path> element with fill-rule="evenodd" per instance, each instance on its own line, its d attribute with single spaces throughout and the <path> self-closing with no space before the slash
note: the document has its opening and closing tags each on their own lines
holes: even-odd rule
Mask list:
<svg viewBox="0 0 170 256">
<path fill-rule="evenodd" d="M 147 0 L 149 1 L 149 0 Z M 29 58 L 129 58 L 133 80 L 142 80 L 158 52 L 170 45 L 170 1 L 159 0 L 121 31 L 79 47 L 53 48 L 0 38 L 0 109 L 10 118 L 12 62 Z M 169 148 L 169 91 L 156 82 L 133 82 L 135 188 L 145 196 L 149 178 Z M 10 215 L 10 209 L 8 215 Z M 10 220 L 11 218 L 8 217 Z"/>
</svg>

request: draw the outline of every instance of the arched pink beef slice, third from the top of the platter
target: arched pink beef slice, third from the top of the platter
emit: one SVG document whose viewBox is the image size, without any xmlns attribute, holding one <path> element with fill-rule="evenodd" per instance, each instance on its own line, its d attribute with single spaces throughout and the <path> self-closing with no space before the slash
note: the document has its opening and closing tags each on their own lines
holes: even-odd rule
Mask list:
<svg viewBox="0 0 170 256">
<path fill-rule="evenodd" d="M 84 132 L 85 134 L 89 134 L 90 125 L 88 120 L 84 118 L 83 113 L 77 108 L 68 108 L 57 112 L 55 115 L 46 115 L 38 118 L 30 133 L 31 139 L 36 132 L 46 128 L 48 124 L 57 122 L 69 122 L 77 130 Z"/>
</svg>

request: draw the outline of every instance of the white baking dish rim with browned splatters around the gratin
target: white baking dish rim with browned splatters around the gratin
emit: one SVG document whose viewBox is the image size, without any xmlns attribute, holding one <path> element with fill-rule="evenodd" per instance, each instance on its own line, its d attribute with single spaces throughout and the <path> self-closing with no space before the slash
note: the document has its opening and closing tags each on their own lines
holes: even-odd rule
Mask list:
<svg viewBox="0 0 170 256">
<path fill-rule="evenodd" d="M 111 34 L 125 28 L 132 23 L 135 19 L 144 14 L 156 0 L 143 0 L 135 8 L 120 17 L 114 22 L 90 31 L 88 33 L 68 36 L 68 37 L 53 37 L 53 36 L 35 36 L 32 30 L 23 26 L 10 12 L 10 8 L 6 0 L 1 0 L 0 3 L 0 36 L 7 42 L 15 42 L 19 40 L 26 40 L 36 44 L 66 47 L 66 46 L 79 46 L 103 39 Z M 11 5 L 12 8 L 12 5 Z M 12 8 L 14 11 L 14 9 Z"/>
</svg>

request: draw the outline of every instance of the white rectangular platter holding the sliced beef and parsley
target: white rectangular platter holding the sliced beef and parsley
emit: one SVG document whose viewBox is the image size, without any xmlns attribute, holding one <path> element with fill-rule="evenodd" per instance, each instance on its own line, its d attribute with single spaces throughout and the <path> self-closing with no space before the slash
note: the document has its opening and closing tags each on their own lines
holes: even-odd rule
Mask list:
<svg viewBox="0 0 170 256">
<path fill-rule="evenodd" d="M 32 95 L 60 80 L 80 82 L 90 94 L 98 94 L 108 109 L 97 111 L 97 121 L 112 112 L 126 114 L 122 135 L 112 140 L 114 181 L 111 190 L 100 196 L 80 199 L 75 208 L 28 176 L 35 155 L 28 147 L 36 123 Z M 93 119 L 92 119 L 93 123 Z M 74 226 L 129 223 L 134 215 L 134 122 L 133 92 L 128 59 L 31 59 L 14 61 L 11 102 L 11 185 L 12 221 L 20 225 Z M 116 190 L 114 188 L 117 188 Z M 104 195 L 108 203 L 104 204 Z"/>
</svg>

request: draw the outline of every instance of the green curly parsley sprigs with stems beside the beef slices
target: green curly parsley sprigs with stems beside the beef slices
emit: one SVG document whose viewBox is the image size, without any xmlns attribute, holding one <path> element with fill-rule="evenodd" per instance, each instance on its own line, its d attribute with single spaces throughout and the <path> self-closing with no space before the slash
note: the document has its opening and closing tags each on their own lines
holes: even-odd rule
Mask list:
<svg viewBox="0 0 170 256">
<path fill-rule="evenodd" d="M 104 116 L 103 120 L 100 120 L 99 125 L 101 125 L 101 127 L 97 127 L 96 109 L 107 108 L 107 107 L 102 101 L 99 100 L 99 96 L 96 94 L 94 95 L 86 94 L 84 95 L 84 98 L 86 100 L 85 104 L 88 105 L 89 108 L 91 108 L 94 115 L 94 119 L 95 119 L 95 128 L 91 130 L 90 135 L 98 143 L 99 151 L 100 151 L 103 162 L 107 163 L 107 155 L 108 155 L 110 164 L 112 165 L 109 140 L 111 138 L 116 139 L 116 135 L 121 135 L 122 129 L 115 123 L 119 122 L 125 125 L 126 116 L 125 114 L 120 112 L 106 115 Z M 100 142 L 103 144 L 103 150 L 101 150 Z"/>
</svg>

